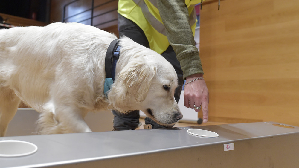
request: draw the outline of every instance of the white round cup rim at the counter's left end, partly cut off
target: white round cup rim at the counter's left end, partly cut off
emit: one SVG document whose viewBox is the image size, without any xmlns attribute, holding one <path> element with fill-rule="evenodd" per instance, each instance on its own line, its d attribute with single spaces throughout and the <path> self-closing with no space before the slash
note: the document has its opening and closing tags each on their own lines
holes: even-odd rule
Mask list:
<svg viewBox="0 0 299 168">
<path fill-rule="evenodd" d="M 30 142 L 19 140 L 1 140 L 0 157 L 16 157 L 30 155 L 37 151 L 37 146 Z"/>
</svg>

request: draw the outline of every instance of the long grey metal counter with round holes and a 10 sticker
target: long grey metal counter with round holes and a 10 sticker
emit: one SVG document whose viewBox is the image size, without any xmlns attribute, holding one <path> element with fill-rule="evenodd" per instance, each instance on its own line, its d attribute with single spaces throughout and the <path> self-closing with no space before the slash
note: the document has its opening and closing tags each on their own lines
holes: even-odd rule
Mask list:
<svg viewBox="0 0 299 168">
<path fill-rule="evenodd" d="M 274 122 L 2 137 L 38 146 L 0 167 L 299 167 L 299 127 Z M 204 138 L 187 129 L 219 134 Z"/>
</svg>

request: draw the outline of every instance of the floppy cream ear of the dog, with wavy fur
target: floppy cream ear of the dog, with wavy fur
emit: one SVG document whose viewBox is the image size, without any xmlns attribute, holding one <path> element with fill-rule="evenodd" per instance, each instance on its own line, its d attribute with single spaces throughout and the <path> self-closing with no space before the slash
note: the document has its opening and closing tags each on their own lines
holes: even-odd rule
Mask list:
<svg viewBox="0 0 299 168">
<path fill-rule="evenodd" d="M 129 64 L 120 71 L 118 77 L 127 91 L 137 102 L 142 102 L 149 92 L 149 87 L 156 74 L 155 65 L 147 64 L 143 57 L 131 59 Z"/>
</svg>

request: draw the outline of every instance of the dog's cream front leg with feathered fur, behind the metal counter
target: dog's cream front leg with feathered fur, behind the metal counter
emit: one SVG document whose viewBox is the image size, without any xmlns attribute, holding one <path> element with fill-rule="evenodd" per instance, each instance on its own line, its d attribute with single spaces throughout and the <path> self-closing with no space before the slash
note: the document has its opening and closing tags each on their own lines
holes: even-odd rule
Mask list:
<svg viewBox="0 0 299 168">
<path fill-rule="evenodd" d="M 55 112 L 42 113 L 39 123 L 40 134 L 62 134 L 92 132 L 85 123 L 86 112 L 75 107 L 62 106 L 55 108 Z"/>
</svg>

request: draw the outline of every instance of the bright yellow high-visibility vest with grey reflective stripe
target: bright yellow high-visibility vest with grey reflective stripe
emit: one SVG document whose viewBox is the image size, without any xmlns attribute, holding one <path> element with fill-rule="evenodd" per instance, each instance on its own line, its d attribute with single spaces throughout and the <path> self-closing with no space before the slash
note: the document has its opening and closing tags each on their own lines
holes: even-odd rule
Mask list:
<svg viewBox="0 0 299 168">
<path fill-rule="evenodd" d="M 196 27 L 194 6 L 200 2 L 201 0 L 185 0 L 193 36 Z M 119 0 L 118 13 L 135 22 L 144 31 L 152 50 L 161 54 L 167 49 L 169 42 L 156 0 Z"/>
</svg>

